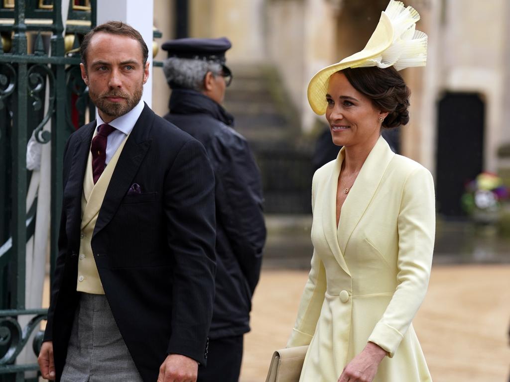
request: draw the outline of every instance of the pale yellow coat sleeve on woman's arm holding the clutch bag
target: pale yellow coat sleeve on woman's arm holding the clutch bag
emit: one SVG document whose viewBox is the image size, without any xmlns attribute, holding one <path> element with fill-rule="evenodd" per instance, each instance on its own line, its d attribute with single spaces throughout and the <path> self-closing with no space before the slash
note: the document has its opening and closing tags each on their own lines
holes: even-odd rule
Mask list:
<svg viewBox="0 0 510 382">
<path fill-rule="evenodd" d="M 312 213 L 315 204 L 315 181 L 312 181 Z M 326 292 L 326 270 L 323 262 L 318 258 L 316 252 L 312 256 L 311 270 L 308 281 L 297 311 L 296 323 L 292 329 L 287 347 L 309 345 L 315 333 L 315 327 L 319 320 L 320 311 L 324 302 Z"/>
</svg>

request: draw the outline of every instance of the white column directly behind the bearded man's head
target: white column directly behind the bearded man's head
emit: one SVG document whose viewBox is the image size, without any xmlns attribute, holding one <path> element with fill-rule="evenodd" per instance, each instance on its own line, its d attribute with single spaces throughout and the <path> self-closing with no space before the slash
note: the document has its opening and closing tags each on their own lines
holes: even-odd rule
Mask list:
<svg viewBox="0 0 510 382">
<path fill-rule="evenodd" d="M 152 24 L 154 4 L 140 0 L 97 0 L 97 24 L 110 20 L 130 24 L 142 35 L 149 49 L 149 79 L 143 87 L 143 100 L 152 105 Z"/>
</svg>

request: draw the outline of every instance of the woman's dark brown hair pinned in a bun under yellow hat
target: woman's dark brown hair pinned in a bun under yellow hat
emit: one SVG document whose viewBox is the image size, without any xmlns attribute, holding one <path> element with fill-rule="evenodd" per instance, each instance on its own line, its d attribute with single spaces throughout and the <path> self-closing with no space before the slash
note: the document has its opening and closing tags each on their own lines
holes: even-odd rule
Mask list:
<svg viewBox="0 0 510 382">
<path fill-rule="evenodd" d="M 393 66 L 347 68 L 342 70 L 352 87 L 372 100 L 375 107 L 389 112 L 382 128 L 393 128 L 409 122 L 411 91 Z"/>
</svg>

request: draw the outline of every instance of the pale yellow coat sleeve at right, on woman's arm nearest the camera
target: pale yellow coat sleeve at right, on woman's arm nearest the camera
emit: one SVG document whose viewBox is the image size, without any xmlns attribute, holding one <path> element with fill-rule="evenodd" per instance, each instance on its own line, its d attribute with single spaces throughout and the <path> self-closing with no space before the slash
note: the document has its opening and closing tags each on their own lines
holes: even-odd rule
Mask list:
<svg viewBox="0 0 510 382">
<path fill-rule="evenodd" d="M 397 288 L 369 337 L 393 357 L 428 287 L 436 229 L 432 176 L 423 167 L 407 177 L 398 215 Z"/>
</svg>

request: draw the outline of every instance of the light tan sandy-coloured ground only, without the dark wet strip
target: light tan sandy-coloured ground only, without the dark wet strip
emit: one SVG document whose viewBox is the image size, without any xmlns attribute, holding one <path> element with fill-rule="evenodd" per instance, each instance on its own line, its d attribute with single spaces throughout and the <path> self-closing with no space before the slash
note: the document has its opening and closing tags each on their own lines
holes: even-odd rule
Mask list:
<svg viewBox="0 0 510 382">
<path fill-rule="evenodd" d="M 240 382 L 265 380 L 272 351 L 285 346 L 306 279 L 306 271 L 263 271 Z M 507 382 L 509 324 L 510 265 L 433 266 L 414 326 L 435 382 Z"/>
</svg>

